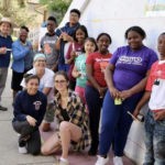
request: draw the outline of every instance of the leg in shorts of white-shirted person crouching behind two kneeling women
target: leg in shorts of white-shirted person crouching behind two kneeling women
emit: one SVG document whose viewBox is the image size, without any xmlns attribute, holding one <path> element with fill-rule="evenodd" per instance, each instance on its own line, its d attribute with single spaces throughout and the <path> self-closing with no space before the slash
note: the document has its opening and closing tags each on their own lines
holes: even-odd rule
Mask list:
<svg viewBox="0 0 165 165">
<path fill-rule="evenodd" d="M 54 103 L 48 103 L 46 107 L 46 112 L 44 116 L 44 120 L 41 124 L 41 129 L 43 132 L 47 132 L 51 130 L 51 123 L 54 121 L 55 117 Z"/>
</svg>

